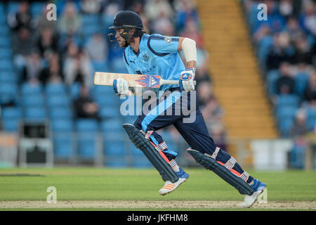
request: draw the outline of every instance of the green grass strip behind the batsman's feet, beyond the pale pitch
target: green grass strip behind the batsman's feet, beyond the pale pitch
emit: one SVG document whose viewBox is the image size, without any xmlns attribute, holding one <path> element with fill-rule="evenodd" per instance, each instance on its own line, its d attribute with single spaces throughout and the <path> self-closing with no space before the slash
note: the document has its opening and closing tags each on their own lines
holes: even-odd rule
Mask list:
<svg viewBox="0 0 316 225">
<path fill-rule="evenodd" d="M 49 186 L 58 201 L 79 200 L 190 200 L 240 201 L 240 195 L 216 174 L 203 168 L 186 168 L 189 179 L 176 191 L 161 196 L 164 181 L 154 169 L 94 167 L 0 169 L 0 201 L 46 201 Z M 316 201 L 316 172 L 256 172 L 268 187 L 268 201 Z M 6 210 L 1 207 L 1 210 Z"/>
</svg>

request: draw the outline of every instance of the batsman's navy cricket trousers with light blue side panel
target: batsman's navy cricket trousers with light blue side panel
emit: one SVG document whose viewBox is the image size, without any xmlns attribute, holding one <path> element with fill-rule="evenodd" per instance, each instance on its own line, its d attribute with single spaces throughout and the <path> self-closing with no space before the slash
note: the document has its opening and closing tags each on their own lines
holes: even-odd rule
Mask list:
<svg viewBox="0 0 316 225">
<path fill-rule="evenodd" d="M 142 113 L 138 116 L 134 126 L 143 129 L 152 145 L 157 150 L 162 150 L 168 160 L 174 160 L 178 153 L 169 150 L 162 136 L 156 132 L 173 124 L 192 149 L 209 155 L 216 152 L 218 163 L 225 165 L 231 172 L 250 183 L 253 177 L 249 176 L 228 153 L 216 148 L 197 105 L 196 94 L 182 92 L 179 88 L 169 89 L 166 93 L 153 105 L 150 105 L 152 107 L 148 107 L 149 113 Z"/>
</svg>

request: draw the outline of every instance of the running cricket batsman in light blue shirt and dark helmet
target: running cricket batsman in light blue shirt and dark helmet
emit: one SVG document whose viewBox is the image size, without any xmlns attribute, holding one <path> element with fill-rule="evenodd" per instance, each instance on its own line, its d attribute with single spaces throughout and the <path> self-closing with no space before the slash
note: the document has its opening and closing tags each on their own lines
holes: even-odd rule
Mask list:
<svg viewBox="0 0 316 225">
<path fill-rule="evenodd" d="M 185 37 L 168 37 L 160 34 L 145 34 L 140 16 L 132 11 L 121 11 L 114 18 L 112 27 L 115 32 L 109 34 L 110 41 L 117 41 L 124 48 L 124 63 L 129 74 L 160 75 L 163 79 L 178 80 L 178 85 L 165 84 L 159 91 L 169 94 L 163 99 L 157 98 L 157 108 L 176 112 L 183 104 L 190 108 L 195 91 L 195 65 L 197 49 L 195 41 Z M 111 39 L 114 37 L 114 39 Z M 185 65 L 178 51 L 183 51 Z M 113 88 L 118 96 L 131 95 L 129 82 L 123 78 L 114 79 Z M 190 148 L 187 152 L 206 169 L 215 172 L 220 178 L 232 185 L 244 195 L 244 203 L 239 207 L 251 207 L 258 195 L 265 189 L 265 184 L 250 176 L 224 150 L 216 146 L 206 128 L 204 118 L 198 105 L 190 108 L 190 114 L 195 113 L 195 120 L 185 122 L 190 117 L 185 113 L 168 115 L 157 113 L 141 113 L 134 124 L 123 124 L 129 139 L 142 150 L 146 158 L 157 169 L 164 186 L 159 190 L 160 195 L 166 195 L 176 190 L 185 182 L 187 174 L 176 163 L 177 153 L 169 150 L 157 130 L 173 124 L 183 136 Z"/>
</svg>

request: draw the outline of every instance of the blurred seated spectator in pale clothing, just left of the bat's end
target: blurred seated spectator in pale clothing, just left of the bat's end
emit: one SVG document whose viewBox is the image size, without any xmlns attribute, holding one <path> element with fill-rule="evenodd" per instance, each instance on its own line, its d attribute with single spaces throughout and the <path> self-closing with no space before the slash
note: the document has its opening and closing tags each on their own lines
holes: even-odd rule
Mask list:
<svg viewBox="0 0 316 225">
<path fill-rule="evenodd" d="M 70 86 L 78 81 L 87 88 L 90 88 L 93 75 L 90 58 L 88 58 L 85 51 L 79 50 L 78 46 L 73 42 L 68 46 L 62 70 L 67 85 Z"/>
</svg>

